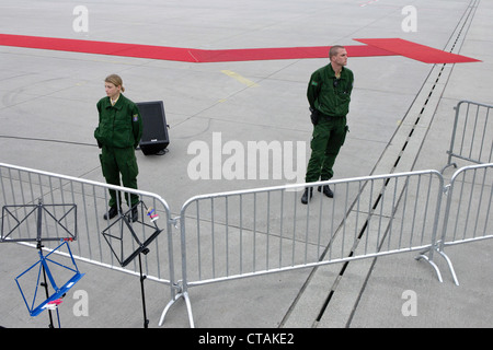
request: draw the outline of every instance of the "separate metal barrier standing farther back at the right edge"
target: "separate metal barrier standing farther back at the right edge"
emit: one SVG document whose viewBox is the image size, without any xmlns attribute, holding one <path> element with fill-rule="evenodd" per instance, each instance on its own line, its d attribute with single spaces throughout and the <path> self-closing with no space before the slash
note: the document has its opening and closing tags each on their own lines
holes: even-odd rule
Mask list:
<svg viewBox="0 0 493 350">
<path fill-rule="evenodd" d="M 493 105 L 471 101 L 460 101 L 454 109 L 456 117 L 450 140 L 448 162 L 444 170 L 452 163 L 452 158 L 473 163 L 492 162 L 493 155 L 493 121 L 490 112 Z M 442 171 L 443 172 L 443 171 Z"/>
</svg>

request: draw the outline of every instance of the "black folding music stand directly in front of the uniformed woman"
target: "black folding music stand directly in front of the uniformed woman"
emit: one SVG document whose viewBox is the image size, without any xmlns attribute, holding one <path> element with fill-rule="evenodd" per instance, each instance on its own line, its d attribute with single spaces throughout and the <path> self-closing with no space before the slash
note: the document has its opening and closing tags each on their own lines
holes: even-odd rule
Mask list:
<svg viewBox="0 0 493 350">
<path fill-rule="evenodd" d="M 136 220 L 134 222 L 131 218 L 131 211 L 134 208 L 138 209 L 139 218 L 142 220 Z M 145 210 L 146 209 L 146 210 Z M 154 220 L 151 220 L 151 224 L 144 222 L 145 212 L 149 212 L 147 206 L 139 201 L 133 208 L 130 208 L 126 213 L 121 214 L 118 219 L 116 219 L 110 226 L 107 226 L 103 232 L 103 237 L 108 244 L 113 255 L 118 260 L 122 267 L 127 266 L 137 256 L 139 257 L 139 271 L 140 271 L 140 292 L 142 296 L 142 311 L 144 311 L 144 328 L 148 328 L 149 319 L 147 319 L 146 312 L 146 295 L 144 291 L 144 280 L 146 276 L 142 272 L 142 260 L 141 254 L 147 255 L 149 253 L 149 244 L 154 241 L 158 235 L 162 232 L 161 229 L 158 228 Z M 159 219 L 159 217 L 158 217 Z M 117 230 L 117 234 L 112 234 L 111 229 L 119 225 L 119 230 Z M 139 232 L 136 231 L 137 228 L 140 228 Z M 152 230 L 152 234 L 149 237 L 146 237 L 145 231 L 147 229 Z M 115 230 L 115 228 L 114 228 Z M 130 242 L 127 242 L 127 237 L 130 238 Z M 114 241 L 113 241 L 114 240 Z M 116 244 L 115 244 L 116 243 Z M 114 246 L 116 245 L 116 246 Z"/>
</svg>

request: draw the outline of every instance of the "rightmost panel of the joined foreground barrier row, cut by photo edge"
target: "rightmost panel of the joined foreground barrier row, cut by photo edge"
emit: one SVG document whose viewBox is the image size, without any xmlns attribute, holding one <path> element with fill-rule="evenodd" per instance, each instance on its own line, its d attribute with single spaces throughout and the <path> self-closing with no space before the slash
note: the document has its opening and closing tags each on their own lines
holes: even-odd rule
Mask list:
<svg viewBox="0 0 493 350">
<path fill-rule="evenodd" d="M 448 262 L 454 281 L 459 285 L 445 246 L 493 238 L 493 163 L 458 170 L 446 187 L 443 232 L 438 253 Z"/>
</svg>

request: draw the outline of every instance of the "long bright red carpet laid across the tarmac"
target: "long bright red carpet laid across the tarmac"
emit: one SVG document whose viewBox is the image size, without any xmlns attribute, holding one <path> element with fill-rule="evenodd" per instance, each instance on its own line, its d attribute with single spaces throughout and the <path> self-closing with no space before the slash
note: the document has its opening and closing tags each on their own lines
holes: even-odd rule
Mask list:
<svg viewBox="0 0 493 350">
<path fill-rule="evenodd" d="M 349 57 L 372 57 L 372 56 L 394 56 L 403 55 L 413 59 L 417 59 L 412 49 L 416 46 L 425 47 L 428 51 L 439 51 L 423 45 L 406 42 L 410 50 L 395 48 L 395 39 L 358 39 L 363 40 L 380 40 L 370 43 L 369 45 L 351 45 L 345 46 Z M 386 45 L 387 40 L 387 45 Z M 390 40 L 390 42 L 389 42 Z M 405 42 L 405 40 L 402 40 Z M 399 45 L 403 45 L 399 42 Z M 365 43 L 366 44 L 366 43 Z M 13 47 L 26 47 L 47 50 L 60 50 L 71 52 L 84 52 L 96 55 L 124 56 L 136 58 L 149 58 L 172 60 L 182 62 L 225 62 L 225 61 L 249 61 L 249 60 L 274 60 L 274 59 L 306 59 L 306 58 L 326 58 L 330 46 L 312 46 L 312 47 L 282 47 L 282 48 L 245 48 L 245 49 L 222 49 L 222 50 L 204 50 L 194 48 L 180 48 L 154 45 L 94 42 L 82 39 L 67 39 L 42 36 L 0 34 L 0 45 Z M 405 46 L 405 45 L 404 45 Z M 448 54 L 439 51 L 443 54 Z M 422 49 L 425 56 L 426 50 Z M 452 56 L 450 56 L 452 55 Z M 420 57 L 421 57 L 420 56 Z M 448 54 L 447 58 L 461 56 Z M 471 59 L 466 60 L 471 61 Z M 475 61 L 475 60 L 473 60 Z"/>
</svg>

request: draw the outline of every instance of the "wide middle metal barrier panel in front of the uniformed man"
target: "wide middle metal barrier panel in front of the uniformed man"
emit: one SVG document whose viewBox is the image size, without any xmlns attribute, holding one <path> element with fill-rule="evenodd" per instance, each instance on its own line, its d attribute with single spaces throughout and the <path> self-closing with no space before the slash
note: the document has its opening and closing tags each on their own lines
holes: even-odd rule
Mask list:
<svg viewBox="0 0 493 350">
<path fill-rule="evenodd" d="M 334 190 L 333 199 L 317 192 L 318 186 L 326 184 Z M 435 244 L 443 192 L 438 172 L 310 184 L 318 195 L 307 206 L 300 203 L 301 192 L 296 190 L 303 186 L 190 199 L 181 212 L 185 284 L 412 252 Z"/>
</svg>

